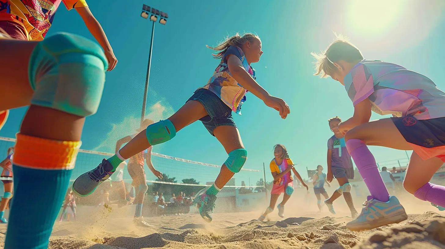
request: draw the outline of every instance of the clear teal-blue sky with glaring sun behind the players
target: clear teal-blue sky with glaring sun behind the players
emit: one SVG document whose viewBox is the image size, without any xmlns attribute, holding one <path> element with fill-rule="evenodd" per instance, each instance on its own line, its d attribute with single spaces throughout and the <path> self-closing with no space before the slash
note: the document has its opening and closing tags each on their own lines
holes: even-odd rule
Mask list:
<svg viewBox="0 0 445 249">
<path fill-rule="evenodd" d="M 445 90 L 443 40 L 445 2 L 429 1 L 198 1 L 90 0 L 89 7 L 104 28 L 119 60 L 107 72 L 97 113 L 86 119 L 82 149 L 113 152 L 117 139 L 138 125 L 150 45 L 151 23 L 140 17 L 142 4 L 167 12 L 166 26 L 157 23 L 147 116 L 165 119 L 194 90 L 206 84 L 218 65 L 206 44 L 215 45 L 235 32 L 256 32 L 263 43 L 261 61 L 252 66 L 268 92 L 287 101 L 286 120 L 247 94 L 243 115 L 235 116 L 249 151 L 245 165 L 262 169 L 273 158 L 273 145 L 287 146 L 297 170 L 326 165 L 328 118 L 347 119 L 353 108 L 346 91 L 332 79 L 313 74 L 310 52 L 325 49 L 334 32 L 348 36 L 366 59 L 384 60 L 420 72 Z M 199 1 L 200 2 L 200 1 Z M 367 5 L 366 5 L 367 4 Z M 422 11 L 419 11 L 422 10 Z M 59 31 L 89 34 L 76 11 L 60 6 L 48 36 Z M 14 109 L 0 136 L 14 137 L 26 108 Z M 372 115 L 372 119 L 381 116 Z M 200 122 L 186 127 L 154 152 L 220 165 L 227 154 Z M 372 147 L 377 161 L 406 158 L 405 151 Z M 94 165 L 93 165 L 94 166 Z M 155 165 L 156 166 L 156 165 Z M 162 171 L 162 168 L 159 168 Z M 209 176 L 211 177 L 211 176 Z M 212 181 L 213 179 L 209 179 Z"/>
</svg>

